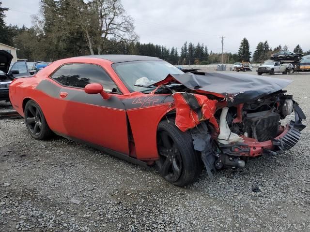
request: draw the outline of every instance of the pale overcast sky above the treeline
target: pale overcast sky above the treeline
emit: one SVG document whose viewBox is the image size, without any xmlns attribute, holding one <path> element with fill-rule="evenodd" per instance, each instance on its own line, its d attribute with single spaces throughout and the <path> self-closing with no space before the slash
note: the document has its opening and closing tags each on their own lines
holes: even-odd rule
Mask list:
<svg viewBox="0 0 310 232">
<path fill-rule="evenodd" d="M 31 26 L 40 0 L 2 0 L 9 7 L 7 24 Z M 209 51 L 237 52 L 246 37 L 250 50 L 268 40 L 271 47 L 287 44 L 293 51 L 297 43 L 310 50 L 309 0 L 122 0 L 135 19 L 142 43 L 177 47 L 185 41 L 204 43 Z"/>
</svg>

